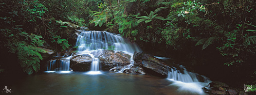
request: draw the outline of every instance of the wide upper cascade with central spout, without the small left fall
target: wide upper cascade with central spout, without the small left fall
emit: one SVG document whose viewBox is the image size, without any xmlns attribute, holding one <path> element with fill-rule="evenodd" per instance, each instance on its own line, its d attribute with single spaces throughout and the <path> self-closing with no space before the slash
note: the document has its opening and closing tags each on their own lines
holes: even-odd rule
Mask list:
<svg viewBox="0 0 256 95">
<path fill-rule="evenodd" d="M 76 46 L 78 47 L 78 54 L 89 54 L 93 59 L 91 63 L 91 72 L 90 74 L 99 74 L 99 62 L 98 58 L 95 57 L 99 55 L 90 54 L 92 51 L 99 49 L 111 49 L 114 51 L 123 51 L 129 55 L 133 55 L 134 51 L 141 51 L 136 44 L 126 43 L 125 39 L 119 34 L 113 34 L 110 32 L 102 31 L 83 31 L 80 30 L 80 35 L 77 37 Z M 132 66 L 128 65 L 129 67 Z M 126 67 L 128 68 L 128 67 Z"/>
</svg>

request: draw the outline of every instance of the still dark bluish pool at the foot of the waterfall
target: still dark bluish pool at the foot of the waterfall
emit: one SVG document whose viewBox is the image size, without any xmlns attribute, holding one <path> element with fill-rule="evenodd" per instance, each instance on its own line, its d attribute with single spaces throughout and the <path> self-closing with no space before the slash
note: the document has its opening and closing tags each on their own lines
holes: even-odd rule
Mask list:
<svg viewBox="0 0 256 95">
<path fill-rule="evenodd" d="M 14 81 L 13 81 L 14 80 Z M 13 82 L 11 82 L 13 81 Z M 11 93 L 4 95 L 198 95 L 190 91 L 178 91 L 174 82 L 150 75 L 132 75 L 101 71 L 42 72 L 20 79 L 1 81 Z"/>
</svg>

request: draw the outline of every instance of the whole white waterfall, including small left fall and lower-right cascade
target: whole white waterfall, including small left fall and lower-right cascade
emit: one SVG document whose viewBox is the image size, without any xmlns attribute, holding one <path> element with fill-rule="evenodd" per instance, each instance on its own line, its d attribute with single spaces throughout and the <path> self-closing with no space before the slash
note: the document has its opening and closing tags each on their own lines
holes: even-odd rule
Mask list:
<svg viewBox="0 0 256 95">
<path fill-rule="evenodd" d="M 123 51 L 131 55 L 130 64 L 119 69 L 119 72 L 123 72 L 125 69 L 129 69 L 133 66 L 132 60 L 133 53 L 135 51 L 141 51 L 136 44 L 127 43 L 123 37 L 119 34 L 102 31 L 84 31 L 80 30 L 80 34 L 77 37 L 76 46 L 78 52 L 76 55 L 89 55 L 92 58 L 91 70 L 87 74 L 101 74 L 99 67 L 98 57 L 102 54 L 103 49 L 111 49 L 116 51 Z M 96 52 L 96 53 L 92 53 Z M 57 56 L 55 60 L 52 60 L 47 67 L 48 71 L 69 71 L 70 70 L 70 57 Z M 162 60 L 168 58 L 157 57 Z M 203 94 L 202 87 L 207 88 L 211 82 L 208 78 L 196 73 L 187 71 L 182 65 L 181 70 L 177 70 L 172 67 L 168 71 L 167 79 L 173 81 L 173 86 L 178 86 L 178 91 L 188 90 L 195 92 L 196 94 Z"/>
</svg>

